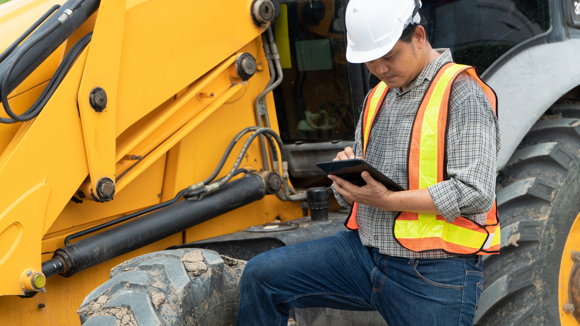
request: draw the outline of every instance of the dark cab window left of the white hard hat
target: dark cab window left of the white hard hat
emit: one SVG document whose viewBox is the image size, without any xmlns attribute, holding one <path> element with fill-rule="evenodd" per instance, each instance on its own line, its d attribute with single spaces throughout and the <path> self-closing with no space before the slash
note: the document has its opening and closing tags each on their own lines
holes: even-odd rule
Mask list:
<svg viewBox="0 0 580 326">
<path fill-rule="evenodd" d="M 284 73 L 274 90 L 284 142 L 354 139 L 343 2 L 281 2 L 274 35 Z"/>
</svg>

